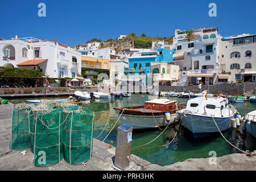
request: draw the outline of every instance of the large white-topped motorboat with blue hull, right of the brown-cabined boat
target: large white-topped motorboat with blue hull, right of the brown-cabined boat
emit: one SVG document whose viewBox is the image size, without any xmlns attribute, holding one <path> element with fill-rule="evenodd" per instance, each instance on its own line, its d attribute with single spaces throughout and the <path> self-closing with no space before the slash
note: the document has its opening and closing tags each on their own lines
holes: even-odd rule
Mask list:
<svg viewBox="0 0 256 182">
<path fill-rule="evenodd" d="M 230 119 L 236 116 L 237 110 L 228 104 L 227 98 L 208 97 L 205 90 L 201 97 L 192 98 L 187 107 L 177 113 L 185 127 L 198 138 L 219 133 L 218 128 L 220 131 L 228 130 Z"/>
</svg>

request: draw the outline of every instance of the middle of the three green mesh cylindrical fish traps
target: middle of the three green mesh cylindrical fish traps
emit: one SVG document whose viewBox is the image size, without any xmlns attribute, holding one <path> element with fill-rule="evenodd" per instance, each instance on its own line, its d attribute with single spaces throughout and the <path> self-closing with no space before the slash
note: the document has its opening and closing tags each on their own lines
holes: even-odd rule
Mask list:
<svg viewBox="0 0 256 182">
<path fill-rule="evenodd" d="M 35 166 L 51 166 L 63 159 L 63 128 L 62 109 L 34 113 L 31 144 Z"/>
</svg>

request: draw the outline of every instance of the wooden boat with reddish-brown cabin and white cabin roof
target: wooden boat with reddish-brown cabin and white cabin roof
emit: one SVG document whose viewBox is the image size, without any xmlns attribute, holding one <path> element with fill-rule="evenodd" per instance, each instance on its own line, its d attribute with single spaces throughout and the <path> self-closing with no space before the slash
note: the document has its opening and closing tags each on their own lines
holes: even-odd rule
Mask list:
<svg viewBox="0 0 256 182">
<path fill-rule="evenodd" d="M 132 126 L 134 130 L 149 129 L 167 126 L 174 123 L 176 111 L 185 108 L 185 105 L 177 105 L 176 101 L 168 99 L 154 99 L 144 102 L 143 106 L 114 107 L 118 115 L 121 115 L 122 124 Z"/>
</svg>

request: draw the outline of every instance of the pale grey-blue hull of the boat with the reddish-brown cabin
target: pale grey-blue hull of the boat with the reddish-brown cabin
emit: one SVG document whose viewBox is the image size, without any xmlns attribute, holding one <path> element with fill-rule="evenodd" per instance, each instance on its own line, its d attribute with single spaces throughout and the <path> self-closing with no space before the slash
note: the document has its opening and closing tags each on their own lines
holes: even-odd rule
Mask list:
<svg viewBox="0 0 256 182">
<path fill-rule="evenodd" d="M 122 113 L 122 110 L 115 110 L 120 116 Z M 171 114 L 170 122 L 171 124 L 175 122 L 176 113 Z M 155 117 L 155 119 L 154 119 Z M 132 114 L 122 114 L 120 117 L 120 121 L 124 125 L 132 126 L 133 130 L 139 130 L 139 129 L 150 129 L 150 128 L 156 128 L 156 127 L 164 127 L 169 124 L 169 122 L 166 121 L 165 115 L 132 115 Z M 171 125 L 170 124 L 170 125 Z"/>
</svg>

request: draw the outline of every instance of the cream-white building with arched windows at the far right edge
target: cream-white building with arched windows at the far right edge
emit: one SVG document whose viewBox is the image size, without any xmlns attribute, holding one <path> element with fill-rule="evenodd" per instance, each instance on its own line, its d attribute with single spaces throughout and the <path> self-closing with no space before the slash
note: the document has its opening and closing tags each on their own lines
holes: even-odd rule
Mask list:
<svg viewBox="0 0 256 182">
<path fill-rule="evenodd" d="M 218 64 L 230 81 L 256 81 L 256 35 L 242 34 L 222 38 Z"/>
</svg>

